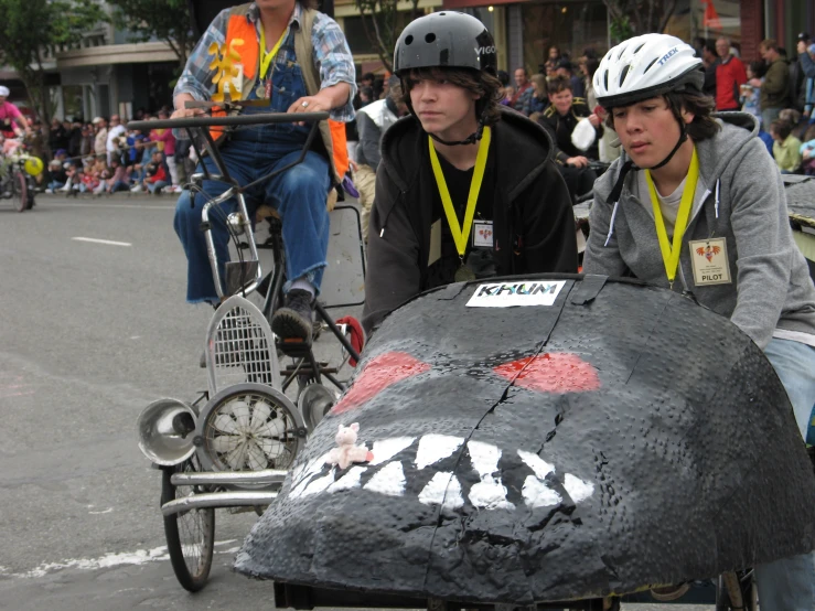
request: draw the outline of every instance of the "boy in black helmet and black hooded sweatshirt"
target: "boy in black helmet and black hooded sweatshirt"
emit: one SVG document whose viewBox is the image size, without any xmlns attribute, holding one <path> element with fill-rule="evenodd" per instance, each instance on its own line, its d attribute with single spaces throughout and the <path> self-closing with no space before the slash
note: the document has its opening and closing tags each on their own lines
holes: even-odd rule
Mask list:
<svg viewBox="0 0 815 611">
<path fill-rule="evenodd" d="M 543 128 L 501 107 L 495 43 L 474 17 L 408 24 L 394 72 L 410 116 L 385 135 L 368 229 L 367 332 L 422 290 L 577 271 L 569 193 Z"/>
</svg>

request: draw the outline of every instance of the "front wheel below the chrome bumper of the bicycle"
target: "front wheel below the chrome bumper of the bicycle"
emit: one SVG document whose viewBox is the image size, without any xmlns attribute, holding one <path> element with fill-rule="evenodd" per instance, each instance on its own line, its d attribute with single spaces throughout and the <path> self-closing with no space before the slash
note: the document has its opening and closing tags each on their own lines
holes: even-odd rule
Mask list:
<svg viewBox="0 0 815 611">
<path fill-rule="evenodd" d="M 193 457 L 176 467 L 162 470 L 161 504 L 203 492 L 201 486 L 175 486 L 170 481 L 173 473 L 201 471 L 199 459 Z M 170 562 L 179 583 L 191 592 L 197 592 L 210 577 L 213 546 L 215 544 L 215 510 L 190 510 L 164 517 L 164 536 Z"/>
</svg>

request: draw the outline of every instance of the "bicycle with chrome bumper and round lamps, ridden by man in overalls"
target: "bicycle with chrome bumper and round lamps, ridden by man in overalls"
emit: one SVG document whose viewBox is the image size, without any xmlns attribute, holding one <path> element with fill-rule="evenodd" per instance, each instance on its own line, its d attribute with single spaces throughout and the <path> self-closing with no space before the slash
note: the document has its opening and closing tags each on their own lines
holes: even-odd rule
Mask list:
<svg viewBox="0 0 815 611">
<path fill-rule="evenodd" d="M 235 109 L 229 104 L 218 107 Z M 337 378 L 340 368 L 348 360 L 360 360 L 350 341 L 348 328 L 337 325 L 321 303 L 317 304 L 317 315 L 343 350 L 339 366 L 318 362 L 311 344 L 281 346 L 276 341 L 269 322 L 282 302 L 282 224 L 274 213 L 269 214 L 269 237 L 264 244 L 256 244 L 244 197 L 248 187 L 302 161 L 317 135 L 318 121 L 326 118 L 328 112 L 258 114 L 129 124 L 132 129 L 190 130 L 199 159 L 203 144 L 219 173 L 211 174 L 202 164 L 203 172 L 194 174 L 186 187 L 203 192 L 204 180 L 229 185 L 224 193 L 210 199 L 202 212 L 202 231 L 221 298 L 206 334 L 207 390 L 192 404 L 159 399 L 144 408 L 138 419 L 139 447 L 162 470 L 161 506 L 173 571 L 189 591 L 201 590 L 208 578 L 215 536 L 214 510 L 254 510 L 259 514 L 275 500 L 307 435 L 336 399 L 323 380 L 328 379 L 337 390 L 344 389 L 345 383 Z M 293 120 L 311 122 L 300 158 L 243 186 L 229 175 L 208 131 L 211 127 L 228 130 Z M 226 215 L 225 221 L 238 260 L 225 261 L 222 278 L 210 219 L 213 214 L 223 215 L 218 205 L 232 197 L 237 200 L 236 212 Z M 334 210 L 356 211 L 353 206 Z M 356 218 L 358 225 L 358 212 Z M 360 245 L 362 255 L 361 239 Z M 272 257 L 272 269 L 266 276 L 258 255 L 264 249 Z M 247 299 L 258 288 L 265 289 L 260 308 Z M 292 364 L 285 369 L 278 362 L 278 350 L 292 357 Z M 285 394 L 293 382 L 298 382 L 297 405 Z"/>
</svg>

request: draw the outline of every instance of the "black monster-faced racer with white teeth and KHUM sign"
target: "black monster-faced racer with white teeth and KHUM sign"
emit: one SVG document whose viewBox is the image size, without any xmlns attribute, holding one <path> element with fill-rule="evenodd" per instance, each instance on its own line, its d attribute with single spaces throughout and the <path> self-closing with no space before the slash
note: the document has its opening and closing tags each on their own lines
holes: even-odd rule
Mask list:
<svg viewBox="0 0 815 611">
<path fill-rule="evenodd" d="M 784 388 L 689 297 L 461 282 L 363 356 L 237 554 L 279 608 L 608 609 L 815 548 Z M 717 608 L 754 609 L 730 582 Z"/>
</svg>

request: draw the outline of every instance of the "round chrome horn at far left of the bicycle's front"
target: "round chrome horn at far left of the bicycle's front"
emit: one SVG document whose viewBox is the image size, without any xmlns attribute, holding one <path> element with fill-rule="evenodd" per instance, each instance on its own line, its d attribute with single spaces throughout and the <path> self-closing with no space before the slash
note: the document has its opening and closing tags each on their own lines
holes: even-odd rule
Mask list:
<svg viewBox="0 0 815 611">
<path fill-rule="evenodd" d="M 139 449 L 156 464 L 171 467 L 195 452 L 195 410 L 178 399 L 159 399 L 137 420 Z"/>
</svg>

